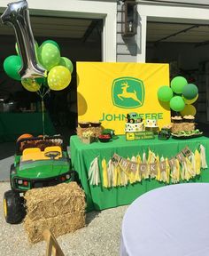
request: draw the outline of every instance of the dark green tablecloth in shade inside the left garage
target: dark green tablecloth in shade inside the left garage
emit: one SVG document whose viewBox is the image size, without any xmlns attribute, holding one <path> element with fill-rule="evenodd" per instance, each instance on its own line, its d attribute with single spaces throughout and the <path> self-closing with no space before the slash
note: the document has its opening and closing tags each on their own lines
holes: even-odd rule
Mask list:
<svg viewBox="0 0 209 256">
<path fill-rule="evenodd" d="M 45 115 L 45 134 L 56 133 L 48 113 Z M 42 113 L 0 113 L 0 141 L 17 140 L 19 135 L 31 133 L 34 136 L 43 134 Z"/>
</svg>

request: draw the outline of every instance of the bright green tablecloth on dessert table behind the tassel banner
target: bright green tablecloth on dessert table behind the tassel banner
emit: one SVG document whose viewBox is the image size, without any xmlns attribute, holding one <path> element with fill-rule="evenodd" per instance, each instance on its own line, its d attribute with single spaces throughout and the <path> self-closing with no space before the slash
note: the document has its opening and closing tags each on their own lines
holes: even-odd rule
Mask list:
<svg viewBox="0 0 209 256">
<path fill-rule="evenodd" d="M 81 143 L 78 136 L 72 136 L 70 140 L 71 159 L 74 169 L 79 173 L 82 187 L 87 197 L 87 211 L 103 210 L 124 204 L 131 204 L 135 198 L 143 193 L 153 189 L 166 186 L 158 180 L 142 180 L 135 184 L 129 184 L 127 187 L 103 188 L 100 186 L 90 186 L 88 180 L 89 166 L 96 156 L 99 156 L 100 176 L 102 177 L 101 162 L 103 158 L 108 162 L 114 153 L 122 157 L 136 156 L 138 153 L 142 156 L 149 148 L 159 156 L 176 156 L 183 148 L 188 146 L 192 152 L 202 144 L 206 150 L 206 160 L 209 164 L 209 138 L 198 137 L 190 140 L 135 140 L 127 141 L 125 136 L 119 136 L 118 140 L 102 143 L 94 142 L 92 144 Z M 201 170 L 201 175 L 192 182 L 208 182 L 209 169 Z"/>
</svg>

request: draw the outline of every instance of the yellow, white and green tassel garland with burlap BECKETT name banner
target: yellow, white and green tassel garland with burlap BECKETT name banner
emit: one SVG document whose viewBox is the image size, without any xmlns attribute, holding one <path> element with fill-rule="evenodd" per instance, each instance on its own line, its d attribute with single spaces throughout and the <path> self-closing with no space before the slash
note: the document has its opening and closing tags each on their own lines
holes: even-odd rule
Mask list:
<svg viewBox="0 0 209 256">
<path fill-rule="evenodd" d="M 148 156 L 132 156 L 131 159 L 113 154 L 108 163 L 102 159 L 102 185 L 104 188 L 127 186 L 145 179 L 155 179 L 166 184 L 188 181 L 207 168 L 205 147 L 200 145 L 195 152 L 185 147 L 179 154 L 168 157 L 156 155 L 149 149 Z M 99 185 L 100 170 L 98 156 L 91 162 L 89 168 L 90 185 Z"/>
</svg>

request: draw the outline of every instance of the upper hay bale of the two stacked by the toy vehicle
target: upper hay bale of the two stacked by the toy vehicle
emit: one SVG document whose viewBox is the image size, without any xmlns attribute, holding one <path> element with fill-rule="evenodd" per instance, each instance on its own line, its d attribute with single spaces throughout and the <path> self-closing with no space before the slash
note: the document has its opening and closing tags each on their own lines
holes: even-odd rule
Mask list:
<svg viewBox="0 0 209 256">
<path fill-rule="evenodd" d="M 85 193 L 76 182 L 54 187 L 33 188 L 25 194 L 27 217 L 30 220 L 47 219 L 66 213 L 85 211 Z"/>
</svg>

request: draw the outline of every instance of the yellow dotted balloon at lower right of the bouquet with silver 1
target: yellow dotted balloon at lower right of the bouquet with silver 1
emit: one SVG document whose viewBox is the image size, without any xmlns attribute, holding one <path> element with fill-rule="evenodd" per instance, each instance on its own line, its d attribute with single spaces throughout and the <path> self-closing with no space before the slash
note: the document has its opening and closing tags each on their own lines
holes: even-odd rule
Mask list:
<svg viewBox="0 0 209 256">
<path fill-rule="evenodd" d="M 66 67 L 55 66 L 50 69 L 47 81 L 51 90 L 60 91 L 70 84 L 71 73 Z"/>
</svg>

